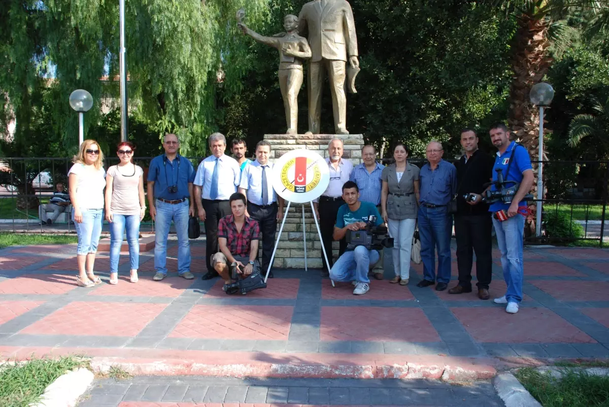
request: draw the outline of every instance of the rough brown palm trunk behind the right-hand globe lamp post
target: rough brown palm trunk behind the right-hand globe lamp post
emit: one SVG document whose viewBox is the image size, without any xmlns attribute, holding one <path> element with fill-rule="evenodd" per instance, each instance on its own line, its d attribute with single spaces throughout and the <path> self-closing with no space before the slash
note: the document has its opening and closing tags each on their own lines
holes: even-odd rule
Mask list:
<svg viewBox="0 0 609 407">
<path fill-rule="evenodd" d="M 514 76 L 510 90 L 510 118 L 508 124 L 513 138 L 529 150 L 535 181 L 531 193 L 537 197 L 537 168 L 534 161 L 539 158 L 539 110 L 529 101 L 530 88 L 543 80 L 552 65 L 547 38 L 549 21 L 532 15 L 518 17 L 518 30 L 514 38 L 512 68 Z M 544 130 L 544 134 L 546 131 Z M 544 151 L 541 160 L 547 160 Z M 545 196 L 545 191 L 544 191 Z M 535 233 L 535 203 L 530 205 L 532 213 L 527 217 L 525 233 Z"/>
</svg>

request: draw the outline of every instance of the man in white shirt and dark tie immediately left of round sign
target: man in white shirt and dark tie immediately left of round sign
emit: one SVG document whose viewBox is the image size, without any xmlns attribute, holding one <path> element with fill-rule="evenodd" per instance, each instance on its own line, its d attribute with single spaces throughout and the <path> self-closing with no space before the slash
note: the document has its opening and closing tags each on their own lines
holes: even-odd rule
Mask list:
<svg viewBox="0 0 609 407">
<path fill-rule="evenodd" d="M 283 199 L 273 190 L 273 163 L 269 163 L 270 143 L 256 144 L 256 161 L 245 166 L 241 174 L 239 192 L 247 197 L 246 216 L 258 221 L 262 232 L 262 273 L 269 269 L 273 255 L 277 221 L 283 217 Z M 273 278 L 273 271 L 269 272 Z"/>
</svg>

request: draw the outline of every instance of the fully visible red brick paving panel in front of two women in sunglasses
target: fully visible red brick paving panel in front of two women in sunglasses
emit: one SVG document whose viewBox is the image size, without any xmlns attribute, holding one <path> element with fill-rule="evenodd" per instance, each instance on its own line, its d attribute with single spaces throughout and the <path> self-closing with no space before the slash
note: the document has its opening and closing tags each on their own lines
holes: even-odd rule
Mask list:
<svg viewBox="0 0 609 407">
<path fill-rule="evenodd" d="M 166 304 L 72 302 L 21 333 L 136 336 Z"/>
</svg>

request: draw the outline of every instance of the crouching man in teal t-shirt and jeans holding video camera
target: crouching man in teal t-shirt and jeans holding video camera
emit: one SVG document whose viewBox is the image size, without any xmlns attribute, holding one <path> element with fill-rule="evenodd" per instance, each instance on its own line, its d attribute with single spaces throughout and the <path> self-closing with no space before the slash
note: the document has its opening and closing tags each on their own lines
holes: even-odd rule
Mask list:
<svg viewBox="0 0 609 407">
<path fill-rule="evenodd" d="M 345 204 L 339 208 L 334 225 L 334 240 L 340 240 L 348 232 L 362 230 L 366 227 L 368 216 L 376 216 L 375 225 L 382 224 L 381 214 L 375 205 L 359 200 L 359 188 L 353 181 L 347 181 L 342 186 L 342 198 Z M 355 289 L 353 294 L 361 295 L 370 289 L 368 269 L 370 264 L 379 260 L 377 250 L 368 250 L 364 246 L 357 246 L 355 250 L 340 255 L 330 269 L 330 278 L 334 281 L 353 281 Z"/>
</svg>

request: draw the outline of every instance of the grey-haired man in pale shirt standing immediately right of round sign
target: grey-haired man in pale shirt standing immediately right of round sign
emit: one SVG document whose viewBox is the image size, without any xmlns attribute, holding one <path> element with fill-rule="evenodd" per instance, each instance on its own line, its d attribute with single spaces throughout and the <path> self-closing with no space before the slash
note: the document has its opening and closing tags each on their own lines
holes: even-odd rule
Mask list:
<svg viewBox="0 0 609 407">
<path fill-rule="evenodd" d="M 332 236 L 334 224 L 336 224 L 336 214 L 339 212 L 339 208 L 345 204 L 342 198 L 342 186 L 349 180 L 351 171 L 353 171 L 353 163 L 351 163 L 351 160 L 344 160 L 342 153 L 342 140 L 340 138 L 330 140 L 328 143 L 328 158 L 326 158 L 330 171 L 330 183 L 322 196 L 319 197 L 319 202 L 317 202 L 317 199 L 313 201 L 315 216 L 320 221 L 319 228 L 320 232 L 322 232 L 323 250 L 328 255 L 329 262 L 329 264 L 326 264 L 322 253 L 323 277 L 329 275 L 330 269 L 334 264 L 332 260 Z M 342 238 L 339 241 L 339 257 L 345 250 L 347 250 L 347 241 L 345 241 L 345 238 Z"/>
</svg>

